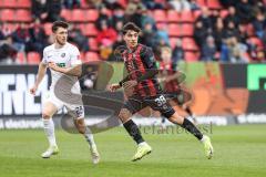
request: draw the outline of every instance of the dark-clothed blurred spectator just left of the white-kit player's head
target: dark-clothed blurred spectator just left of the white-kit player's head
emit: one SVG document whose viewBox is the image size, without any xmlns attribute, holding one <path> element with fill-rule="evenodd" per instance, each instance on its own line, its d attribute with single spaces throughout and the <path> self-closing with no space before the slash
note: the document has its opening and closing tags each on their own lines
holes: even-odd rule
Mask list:
<svg viewBox="0 0 266 177">
<path fill-rule="evenodd" d="M 42 53 L 44 46 L 48 45 L 47 34 L 43 30 L 40 20 L 37 19 L 32 27 L 29 29 L 30 40 L 25 45 L 25 52 L 37 51 L 38 53 Z"/>
</svg>

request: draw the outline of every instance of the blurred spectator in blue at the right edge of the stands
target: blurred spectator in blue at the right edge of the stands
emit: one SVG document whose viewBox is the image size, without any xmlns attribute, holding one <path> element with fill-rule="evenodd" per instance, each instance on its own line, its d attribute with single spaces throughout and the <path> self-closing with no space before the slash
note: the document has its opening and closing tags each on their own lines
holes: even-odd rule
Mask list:
<svg viewBox="0 0 266 177">
<path fill-rule="evenodd" d="M 263 38 L 264 28 L 266 27 L 265 15 L 262 12 L 256 14 L 256 19 L 253 21 L 253 27 L 258 38 Z"/>
</svg>

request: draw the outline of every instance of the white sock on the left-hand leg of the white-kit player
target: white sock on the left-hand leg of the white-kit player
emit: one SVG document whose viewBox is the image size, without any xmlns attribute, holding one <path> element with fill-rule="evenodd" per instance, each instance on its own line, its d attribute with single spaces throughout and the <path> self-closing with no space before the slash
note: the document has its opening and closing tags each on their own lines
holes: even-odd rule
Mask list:
<svg viewBox="0 0 266 177">
<path fill-rule="evenodd" d="M 43 122 L 43 129 L 50 146 L 57 146 L 55 136 L 54 136 L 54 124 L 52 118 L 42 119 L 42 122 Z"/>
</svg>

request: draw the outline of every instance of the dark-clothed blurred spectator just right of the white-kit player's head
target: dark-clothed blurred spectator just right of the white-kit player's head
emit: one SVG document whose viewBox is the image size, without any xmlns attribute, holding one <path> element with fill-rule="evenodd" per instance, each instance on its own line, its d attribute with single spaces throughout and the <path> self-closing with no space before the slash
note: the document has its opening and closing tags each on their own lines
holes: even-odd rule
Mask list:
<svg viewBox="0 0 266 177">
<path fill-rule="evenodd" d="M 82 34 L 80 29 L 74 28 L 73 24 L 69 27 L 69 41 L 76 44 L 81 52 L 89 51 L 88 38 Z"/>
</svg>

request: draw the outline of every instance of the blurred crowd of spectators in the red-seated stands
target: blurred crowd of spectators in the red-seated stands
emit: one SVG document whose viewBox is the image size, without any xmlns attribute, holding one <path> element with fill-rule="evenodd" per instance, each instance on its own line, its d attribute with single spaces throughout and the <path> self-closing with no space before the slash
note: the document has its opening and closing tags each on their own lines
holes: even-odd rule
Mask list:
<svg viewBox="0 0 266 177">
<path fill-rule="evenodd" d="M 221 61 L 232 63 L 264 62 L 266 54 L 266 1 L 265 0 L 219 0 L 228 13 L 221 17 L 219 10 L 201 7 L 196 0 L 86 0 L 90 8 L 99 10 L 95 21 L 96 44 L 102 60 L 117 61 L 112 53 L 123 44 L 121 29 L 132 21 L 142 29 L 140 42 L 151 46 L 157 60 L 161 49 L 170 46 L 167 23 L 156 24 L 151 11 L 200 11 L 194 23 L 193 39 L 200 50 L 200 61 Z M 79 9 L 81 0 L 32 0 L 31 23 L 19 23 L 16 30 L 8 29 L 0 21 L 0 63 L 12 63 L 18 52 L 42 50 L 52 43 L 43 23 L 64 20 L 62 9 Z M 112 11 L 112 13 L 110 13 Z M 255 31 L 258 41 L 250 41 L 247 27 Z M 89 38 L 79 25 L 71 23 L 70 42 L 81 52 L 91 50 Z M 172 45 L 172 60 L 185 60 L 183 39 Z"/>
</svg>

